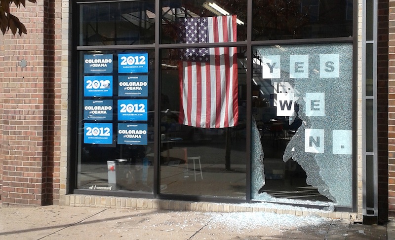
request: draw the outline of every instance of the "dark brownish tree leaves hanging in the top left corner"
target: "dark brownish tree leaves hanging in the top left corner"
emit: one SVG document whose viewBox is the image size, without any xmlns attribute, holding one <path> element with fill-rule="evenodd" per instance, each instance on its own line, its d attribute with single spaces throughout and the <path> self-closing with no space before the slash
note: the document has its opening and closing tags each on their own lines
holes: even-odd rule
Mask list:
<svg viewBox="0 0 395 240">
<path fill-rule="evenodd" d="M 36 0 L 28 0 L 36 3 Z M 16 7 L 26 7 L 26 0 L 0 0 L 0 30 L 3 35 L 11 30 L 12 34 L 16 34 L 18 31 L 19 35 L 27 34 L 26 27 L 19 21 L 17 17 L 10 13 L 11 5 L 14 4 Z"/>
</svg>

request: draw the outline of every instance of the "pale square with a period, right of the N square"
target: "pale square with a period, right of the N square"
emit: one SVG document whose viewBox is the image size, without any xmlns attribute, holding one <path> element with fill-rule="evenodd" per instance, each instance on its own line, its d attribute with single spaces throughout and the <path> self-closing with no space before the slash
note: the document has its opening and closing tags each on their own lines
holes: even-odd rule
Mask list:
<svg viewBox="0 0 395 240">
<path fill-rule="evenodd" d="M 353 154 L 353 131 L 333 130 L 332 146 L 333 154 Z"/>
</svg>

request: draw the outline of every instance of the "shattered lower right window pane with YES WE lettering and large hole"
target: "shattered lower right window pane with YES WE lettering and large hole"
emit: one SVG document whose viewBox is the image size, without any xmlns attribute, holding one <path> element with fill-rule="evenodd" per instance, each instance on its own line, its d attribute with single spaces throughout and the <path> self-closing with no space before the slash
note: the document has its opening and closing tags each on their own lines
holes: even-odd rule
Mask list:
<svg viewBox="0 0 395 240">
<path fill-rule="evenodd" d="M 352 206 L 352 43 L 253 53 L 252 199 Z"/>
</svg>

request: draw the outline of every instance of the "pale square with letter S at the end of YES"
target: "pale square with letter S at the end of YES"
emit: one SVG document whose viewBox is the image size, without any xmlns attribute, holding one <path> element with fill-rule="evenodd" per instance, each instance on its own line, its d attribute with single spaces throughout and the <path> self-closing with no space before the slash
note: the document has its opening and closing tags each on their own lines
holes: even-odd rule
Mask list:
<svg viewBox="0 0 395 240">
<path fill-rule="evenodd" d="M 319 77 L 338 78 L 340 76 L 339 54 L 319 55 Z"/>
</svg>

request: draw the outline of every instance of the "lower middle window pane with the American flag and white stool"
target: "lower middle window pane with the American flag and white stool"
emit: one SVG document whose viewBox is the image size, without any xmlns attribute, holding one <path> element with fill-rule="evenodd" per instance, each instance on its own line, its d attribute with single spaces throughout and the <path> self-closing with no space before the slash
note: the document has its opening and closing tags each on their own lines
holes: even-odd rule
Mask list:
<svg viewBox="0 0 395 240">
<path fill-rule="evenodd" d="M 200 61 L 161 52 L 160 193 L 245 199 L 246 59 L 235 47 L 199 50 Z"/>
</svg>

